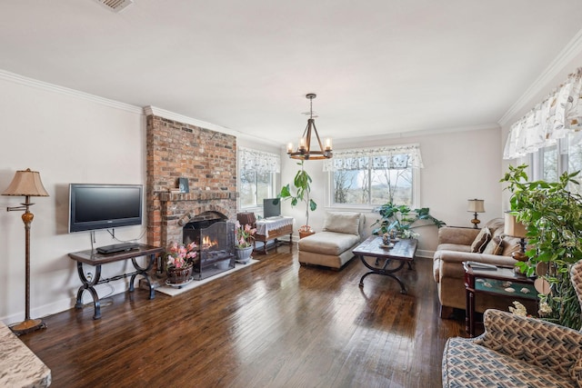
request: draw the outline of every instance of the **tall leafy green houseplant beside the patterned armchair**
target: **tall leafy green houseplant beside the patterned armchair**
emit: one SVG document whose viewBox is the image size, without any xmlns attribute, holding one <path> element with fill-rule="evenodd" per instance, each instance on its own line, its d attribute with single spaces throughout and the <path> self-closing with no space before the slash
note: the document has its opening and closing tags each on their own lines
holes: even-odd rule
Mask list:
<svg viewBox="0 0 582 388">
<path fill-rule="evenodd" d="M 501 179 L 512 194 L 512 214 L 527 228 L 528 261 L 517 266 L 549 284 L 549 292 L 540 293 L 540 316 L 579 330 L 580 304 L 569 270 L 582 259 L 582 196 L 568 189 L 578 184 L 579 172 L 564 173 L 554 183 L 528 182 L 526 168 L 510 165 Z"/>
</svg>

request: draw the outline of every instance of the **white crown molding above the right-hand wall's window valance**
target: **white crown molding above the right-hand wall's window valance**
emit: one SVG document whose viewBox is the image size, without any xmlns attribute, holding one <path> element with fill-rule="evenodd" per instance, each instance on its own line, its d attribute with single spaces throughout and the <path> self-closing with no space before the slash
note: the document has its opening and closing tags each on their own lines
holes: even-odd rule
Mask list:
<svg viewBox="0 0 582 388">
<path fill-rule="evenodd" d="M 546 70 L 539 75 L 532 85 L 530 85 L 526 92 L 517 99 L 517 101 L 509 107 L 506 114 L 504 114 L 498 121 L 498 124 L 504 126 L 508 121 L 523 109 L 526 104 L 532 100 L 549 82 L 554 79 L 566 66 L 577 56 L 582 53 L 582 30 L 578 31 L 577 35 L 568 42 L 566 47 L 557 55 L 556 58 L 547 66 Z M 572 69 L 574 71 L 574 69 Z M 533 107 L 533 106 L 532 106 Z"/>
</svg>

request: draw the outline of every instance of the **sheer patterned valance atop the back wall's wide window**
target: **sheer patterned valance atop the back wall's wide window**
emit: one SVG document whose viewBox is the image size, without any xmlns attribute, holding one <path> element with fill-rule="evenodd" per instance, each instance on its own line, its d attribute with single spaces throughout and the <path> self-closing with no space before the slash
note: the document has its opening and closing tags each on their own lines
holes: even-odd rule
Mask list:
<svg viewBox="0 0 582 388">
<path fill-rule="evenodd" d="M 324 161 L 324 171 L 423 168 L 419 144 L 391 145 L 334 151 Z"/>
</svg>

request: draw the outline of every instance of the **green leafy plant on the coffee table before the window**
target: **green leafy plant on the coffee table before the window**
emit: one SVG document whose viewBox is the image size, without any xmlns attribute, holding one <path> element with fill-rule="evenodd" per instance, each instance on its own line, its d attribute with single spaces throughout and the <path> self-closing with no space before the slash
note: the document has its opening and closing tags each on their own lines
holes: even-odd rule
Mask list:
<svg viewBox="0 0 582 388">
<path fill-rule="evenodd" d="M 427 225 L 426 223 L 416 224 L 418 221 L 426 220 L 437 225 L 439 228 L 445 225 L 444 222 L 437 220 L 437 218 L 430 215 L 427 207 L 412 210 L 405 204 L 396 205 L 387 203 L 378 207 L 376 212 L 378 212 L 382 218 L 376 220 L 376 223 L 372 224 L 372 226 L 380 225 L 372 230 L 372 234 L 386 234 L 392 230 L 396 230 L 397 234 L 400 234 L 405 238 L 414 238 L 418 234 L 413 231 L 413 229 Z"/>
</svg>

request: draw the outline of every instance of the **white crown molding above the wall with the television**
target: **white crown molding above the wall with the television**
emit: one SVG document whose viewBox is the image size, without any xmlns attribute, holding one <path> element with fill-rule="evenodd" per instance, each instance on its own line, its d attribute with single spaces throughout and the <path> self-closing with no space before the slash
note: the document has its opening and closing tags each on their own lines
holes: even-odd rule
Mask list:
<svg viewBox="0 0 582 388">
<path fill-rule="evenodd" d="M 25 77 L 24 75 L 17 75 L 15 73 L 7 72 L 0 69 L 0 79 L 13 82 L 19 85 L 25 85 L 34 87 L 35 89 L 42 89 L 48 92 L 56 93 L 59 95 L 68 95 L 76 98 L 81 98 L 83 100 L 91 101 L 95 104 L 102 104 L 115 109 L 121 109 L 134 114 L 142 114 L 143 110 L 141 106 L 135 106 L 132 104 L 120 103 L 119 101 L 110 100 L 108 98 L 99 97 L 98 95 L 90 95 L 85 92 L 80 92 L 75 89 L 70 89 L 65 86 L 59 86 L 55 84 L 49 84 L 44 81 L 39 81 L 34 78 Z"/>
</svg>

